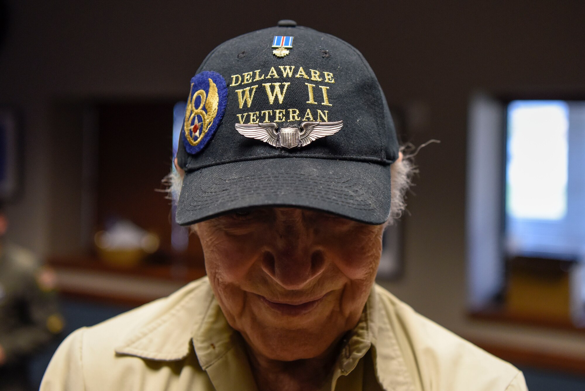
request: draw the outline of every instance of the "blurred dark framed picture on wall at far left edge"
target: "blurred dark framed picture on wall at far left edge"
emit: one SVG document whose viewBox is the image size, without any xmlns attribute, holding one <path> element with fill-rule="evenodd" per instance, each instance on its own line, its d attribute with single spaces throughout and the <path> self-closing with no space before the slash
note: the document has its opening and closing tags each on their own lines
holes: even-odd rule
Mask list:
<svg viewBox="0 0 585 391">
<path fill-rule="evenodd" d="M 16 115 L 0 108 L 0 200 L 10 198 L 18 187 L 18 134 Z"/>
</svg>

